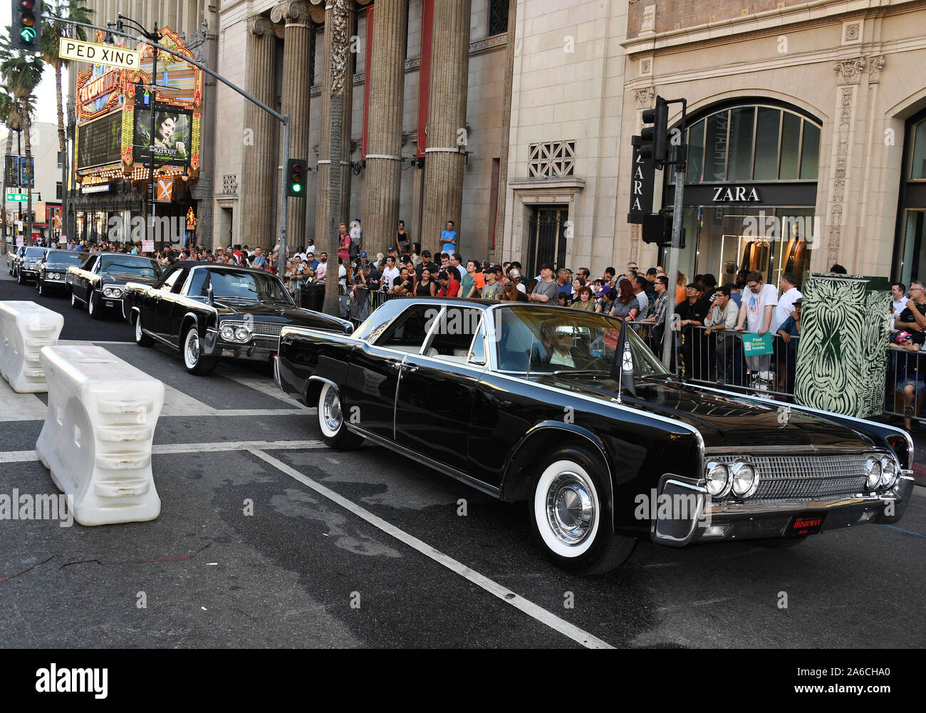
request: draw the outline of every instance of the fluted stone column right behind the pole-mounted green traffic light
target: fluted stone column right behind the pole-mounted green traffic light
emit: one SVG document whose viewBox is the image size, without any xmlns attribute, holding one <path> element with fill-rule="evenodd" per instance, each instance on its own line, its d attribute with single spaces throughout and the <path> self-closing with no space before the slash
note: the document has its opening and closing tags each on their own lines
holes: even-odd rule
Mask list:
<svg viewBox="0 0 926 713">
<path fill-rule="evenodd" d="M 273 8 L 270 19 L 285 21 L 283 39 L 282 113 L 290 118 L 289 154 L 308 161 L 308 77 L 311 60 L 311 6 L 295 0 Z M 285 167 L 283 167 L 285 170 Z M 308 175 L 304 170 L 303 175 Z M 306 198 L 287 198 L 286 243 L 306 244 Z"/>
</svg>

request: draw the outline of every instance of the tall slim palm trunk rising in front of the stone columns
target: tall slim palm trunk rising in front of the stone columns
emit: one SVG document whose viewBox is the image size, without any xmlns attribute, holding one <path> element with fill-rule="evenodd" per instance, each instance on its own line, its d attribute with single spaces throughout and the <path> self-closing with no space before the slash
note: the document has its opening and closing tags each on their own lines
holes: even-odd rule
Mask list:
<svg viewBox="0 0 926 713">
<path fill-rule="evenodd" d="M 350 75 L 348 74 L 350 56 L 347 53 L 347 44 L 350 42 L 347 30 L 347 0 L 334 0 L 332 7 L 332 109 L 331 109 L 331 164 L 328 169 L 328 255 L 336 256 L 340 250 L 338 233 L 341 216 L 341 156 L 342 136 L 344 133 L 344 92 L 351 91 Z M 329 259 L 329 273 L 325 277 L 325 303 L 322 311 L 325 314 L 338 316 L 340 314 L 338 301 L 338 273 L 337 263 Z M 344 268 L 347 266 L 345 265 Z"/>
</svg>

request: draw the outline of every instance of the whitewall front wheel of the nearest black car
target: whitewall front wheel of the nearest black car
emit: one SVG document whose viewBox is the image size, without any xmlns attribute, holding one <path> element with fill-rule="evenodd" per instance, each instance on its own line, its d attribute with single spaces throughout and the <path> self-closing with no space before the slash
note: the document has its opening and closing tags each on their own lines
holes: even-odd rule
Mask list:
<svg viewBox="0 0 926 713">
<path fill-rule="evenodd" d="M 596 460 L 582 448 L 563 448 L 544 460 L 533 483 L 534 537 L 547 557 L 576 574 L 616 569 L 636 545 L 634 538 L 612 532 Z"/>
</svg>

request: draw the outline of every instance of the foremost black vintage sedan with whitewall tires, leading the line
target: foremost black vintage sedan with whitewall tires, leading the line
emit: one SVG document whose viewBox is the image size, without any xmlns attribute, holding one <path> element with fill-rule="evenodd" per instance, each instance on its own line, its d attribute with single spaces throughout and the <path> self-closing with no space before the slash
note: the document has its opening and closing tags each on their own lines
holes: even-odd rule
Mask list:
<svg viewBox="0 0 926 713">
<path fill-rule="evenodd" d="M 334 447 L 368 439 L 527 501 L 571 571 L 613 569 L 641 538 L 790 545 L 902 516 L 906 432 L 687 384 L 621 331 L 565 307 L 396 299 L 353 333 L 284 328 L 274 379 Z"/>
</svg>

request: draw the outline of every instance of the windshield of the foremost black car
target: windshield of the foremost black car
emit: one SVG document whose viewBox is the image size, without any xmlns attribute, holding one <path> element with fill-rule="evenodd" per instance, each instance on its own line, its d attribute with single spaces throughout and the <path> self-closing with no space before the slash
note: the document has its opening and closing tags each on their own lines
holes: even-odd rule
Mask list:
<svg viewBox="0 0 926 713">
<path fill-rule="evenodd" d="M 562 307 L 494 309 L 498 368 L 514 373 L 610 373 L 620 339 L 619 319 Z M 634 378 L 668 376 L 657 357 L 628 330 Z"/>
</svg>

